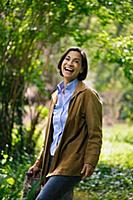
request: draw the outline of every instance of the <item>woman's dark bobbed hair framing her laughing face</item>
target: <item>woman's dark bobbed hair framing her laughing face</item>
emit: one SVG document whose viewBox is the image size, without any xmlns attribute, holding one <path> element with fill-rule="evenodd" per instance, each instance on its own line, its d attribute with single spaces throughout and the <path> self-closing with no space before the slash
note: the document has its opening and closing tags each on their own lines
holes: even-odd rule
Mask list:
<svg viewBox="0 0 133 200">
<path fill-rule="evenodd" d="M 79 81 L 82 81 L 86 78 L 87 76 L 87 73 L 88 73 L 88 63 L 87 63 L 87 57 L 86 57 L 86 54 L 84 51 L 82 51 L 79 47 L 71 47 L 69 48 L 61 57 L 59 63 L 58 63 L 58 69 L 60 71 L 60 75 L 63 76 L 62 74 L 62 71 L 61 71 L 61 65 L 62 65 L 62 62 L 63 60 L 65 59 L 66 55 L 70 52 L 70 51 L 77 51 L 80 53 L 81 55 L 81 60 L 82 60 L 82 69 L 83 69 L 83 72 L 80 73 L 77 77 L 77 79 Z"/>
</svg>

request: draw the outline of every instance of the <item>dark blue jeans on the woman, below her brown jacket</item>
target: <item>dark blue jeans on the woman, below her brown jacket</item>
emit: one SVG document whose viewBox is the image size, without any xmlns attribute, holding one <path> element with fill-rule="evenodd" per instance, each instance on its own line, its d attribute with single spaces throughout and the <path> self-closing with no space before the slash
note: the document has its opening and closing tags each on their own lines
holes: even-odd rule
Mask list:
<svg viewBox="0 0 133 200">
<path fill-rule="evenodd" d="M 51 176 L 36 200 L 72 200 L 73 188 L 79 181 L 78 176 Z"/>
</svg>

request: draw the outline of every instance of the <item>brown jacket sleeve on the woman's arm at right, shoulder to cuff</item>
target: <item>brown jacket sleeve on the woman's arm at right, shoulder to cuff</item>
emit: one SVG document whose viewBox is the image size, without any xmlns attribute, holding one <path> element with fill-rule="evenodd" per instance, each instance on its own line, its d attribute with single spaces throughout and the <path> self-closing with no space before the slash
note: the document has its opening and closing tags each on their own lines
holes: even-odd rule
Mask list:
<svg viewBox="0 0 133 200">
<path fill-rule="evenodd" d="M 88 90 L 85 95 L 85 116 L 88 129 L 84 163 L 96 166 L 102 145 L 102 103 L 98 94 Z"/>
</svg>

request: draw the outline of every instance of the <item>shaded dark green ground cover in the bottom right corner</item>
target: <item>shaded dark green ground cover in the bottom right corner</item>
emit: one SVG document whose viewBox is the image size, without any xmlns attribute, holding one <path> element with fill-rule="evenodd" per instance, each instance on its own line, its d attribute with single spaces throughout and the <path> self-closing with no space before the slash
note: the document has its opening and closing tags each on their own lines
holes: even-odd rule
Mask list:
<svg viewBox="0 0 133 200">
<path fill-rule="evenodd" d="M 130 199 L 133 194 L 132 179 L 132 168 L 99 164 L 90 178 L 80 182 L 77 190 L 86 191 L 88 199 L 93 200 Z"/>
</svg>

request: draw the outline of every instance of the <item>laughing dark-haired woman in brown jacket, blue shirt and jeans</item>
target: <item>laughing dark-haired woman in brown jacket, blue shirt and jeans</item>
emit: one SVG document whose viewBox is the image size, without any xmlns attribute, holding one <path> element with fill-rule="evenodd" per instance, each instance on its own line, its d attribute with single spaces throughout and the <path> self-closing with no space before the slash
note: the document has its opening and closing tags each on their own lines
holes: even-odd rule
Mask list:
<svg viewBox="0 0 133 200">
<path fill-rule="evenodd" d="M 63 81 L 52 94 L 44 146 L 29 169 L 35 173 L 42 168 L 45 184 L 36 200 L 59 200 L 91 176 L 102 144 L 102 105 L 82 82 L 88 71 L 85 53 L 68 49 L 58 69 Z"/>
</svg>

